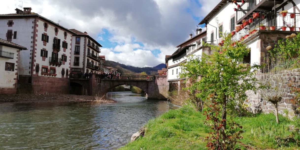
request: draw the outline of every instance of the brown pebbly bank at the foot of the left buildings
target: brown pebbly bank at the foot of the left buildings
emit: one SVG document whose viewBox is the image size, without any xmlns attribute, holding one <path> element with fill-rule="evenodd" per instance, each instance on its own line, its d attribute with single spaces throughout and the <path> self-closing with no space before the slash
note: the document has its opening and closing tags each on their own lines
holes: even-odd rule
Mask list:
<svg viewBox="0 0 300 150">
<path fill-rule="evenodd" d="M 95 96 L 71 94 L 0 94 L 0 102 L 14 103 L 115 103 L 112 99 L 96 101 Z"/>
</svg>

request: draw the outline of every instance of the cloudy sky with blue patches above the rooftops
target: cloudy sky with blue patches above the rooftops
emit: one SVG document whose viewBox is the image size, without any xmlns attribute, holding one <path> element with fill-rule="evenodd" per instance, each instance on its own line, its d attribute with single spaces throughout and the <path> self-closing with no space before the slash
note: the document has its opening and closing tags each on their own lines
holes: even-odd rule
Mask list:
<svg viewBox="0 0 300 150">
<path fill-rule="evenodd" d="M 164 63 L 220 0 L 0 0 L 0 14 L 32 7 L 68 28 L 96 39 L 100 55 L 145 67 Z"/>
</svg>

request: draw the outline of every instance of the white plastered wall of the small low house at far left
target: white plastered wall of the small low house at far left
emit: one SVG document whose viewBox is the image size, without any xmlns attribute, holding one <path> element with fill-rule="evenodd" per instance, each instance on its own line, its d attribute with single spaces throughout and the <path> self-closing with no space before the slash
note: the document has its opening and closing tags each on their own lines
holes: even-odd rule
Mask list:
<svg viewBox="0 0 300 150">
<path fill-rule="evenodd" d="M 17 61 L 17 54 L 18 54 L 18 50 L 16 48 L 11 48 L 11 47 L 7 47 L 7 46 L 1 46 L 0 45 L 0 50 L 1 51 L 6 51 L 6 52 L 12 52 L 13 54 L 13 59 L 10 58 L 4 58 L 0 56 L 0 88 L 14 88 L 15 86 L 13 85 L 14 83 L 16 83 L 16 81 L 14 80 L 15 78 L 17 78 L 17 67 L 16 67 L 16 61 Z M 14 64 L 14 70 L 13 71 L 6 71 L 5 70 L 5 62 L 10 62 Z"/>
</svg>

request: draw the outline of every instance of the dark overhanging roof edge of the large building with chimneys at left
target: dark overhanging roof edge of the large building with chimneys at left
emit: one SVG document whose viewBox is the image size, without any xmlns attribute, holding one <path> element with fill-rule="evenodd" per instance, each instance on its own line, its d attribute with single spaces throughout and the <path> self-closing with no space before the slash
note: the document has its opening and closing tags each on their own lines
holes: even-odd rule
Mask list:
<svg viewBox="0 0 300 150">
<path fill-rule="evenodd" d="M 47 22 L 50 22 L 51 24 L 53 24 L 55 26 L 58 26 L 58 27 L 60 27 L 60 28 L 62 28 L 64 30 L 66 30 L 66 31 L 68 31 L 70 33 L 73 33 L 69 29 L 67 29 L 67 28 L 59 25 L 58 23 L 53 22 L 52 20 L 49 20 L 49 19 L 47 19 L 47 18 L 39 15 L 38 13 L 32 12 L 32 13 L 25 13 L 25 14 L 23 14 L 23 13 L 0 14 L 0 18 L 23 18 L 23 17 L 25 17 L 25 18 L 30 18 L 30 17 L 35 18 L 35 17 L 38 17 L 38 18 L 43 19 L 43 20 L 45 20 Z"/>
</svg>

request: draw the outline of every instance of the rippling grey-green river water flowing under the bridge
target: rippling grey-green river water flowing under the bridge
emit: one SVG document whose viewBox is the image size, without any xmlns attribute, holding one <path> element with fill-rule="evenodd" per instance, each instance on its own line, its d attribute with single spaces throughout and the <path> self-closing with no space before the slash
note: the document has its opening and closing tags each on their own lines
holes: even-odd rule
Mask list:
<svg viewBox="0 0 300 150">
<path fill-rule="evenodd" d="M 0 104 L 0 149 L 117 149 L 167 101 L 131 92 L 112 92 L 113 104 Z"/>
</svg>

